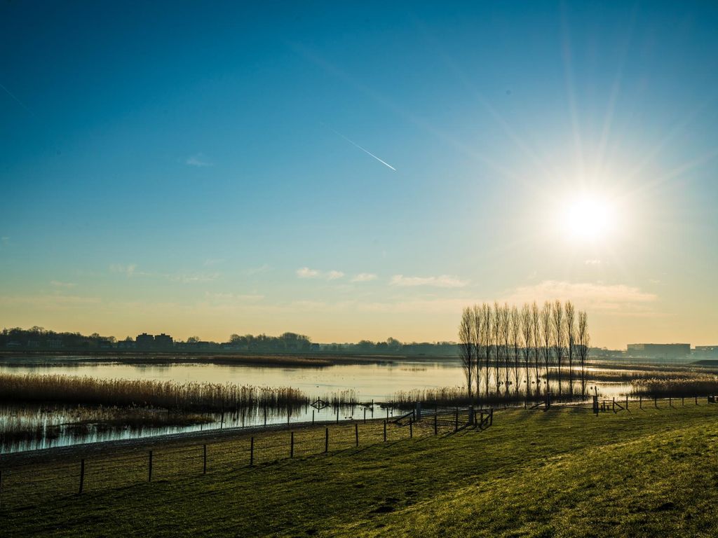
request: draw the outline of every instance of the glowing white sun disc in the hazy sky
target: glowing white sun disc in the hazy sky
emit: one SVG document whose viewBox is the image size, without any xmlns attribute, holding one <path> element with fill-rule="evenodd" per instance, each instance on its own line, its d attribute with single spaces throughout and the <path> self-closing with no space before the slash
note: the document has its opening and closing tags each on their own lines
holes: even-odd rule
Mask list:
<svg viewBox="0 0 718 538">
<path fill-rule="evenodd" d="M 567 197 L 561 207 L 560 220 L 559 225 L 568 239 L 583 242 L 606 240 L 616 224 L 610 201 L 593 193 Z"/>
</svg>

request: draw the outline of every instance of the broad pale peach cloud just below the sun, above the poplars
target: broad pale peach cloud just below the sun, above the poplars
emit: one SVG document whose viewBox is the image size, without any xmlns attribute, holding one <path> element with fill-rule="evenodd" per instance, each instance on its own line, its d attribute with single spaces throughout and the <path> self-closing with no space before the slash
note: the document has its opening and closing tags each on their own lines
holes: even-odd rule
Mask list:
<svg viewBox="0 0 718 538">
<path fill-rule="evenodd" d="M 525 303 L 570 299 L 578 308 L 612 312 L 647 312 L 658 296 L 625 284 L 573 283 L 544 280 L 536 285 L 516 288 L 505 298 L 508 303 Z"/>
</svg>

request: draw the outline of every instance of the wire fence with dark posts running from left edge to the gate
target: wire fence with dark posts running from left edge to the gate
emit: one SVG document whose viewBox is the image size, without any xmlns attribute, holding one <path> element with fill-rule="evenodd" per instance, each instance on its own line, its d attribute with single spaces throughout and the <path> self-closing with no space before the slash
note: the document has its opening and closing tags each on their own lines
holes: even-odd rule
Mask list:
<svg viewBox="0 0 718 538">
<path fill-rule="evenodd" d="M 467 427 L 482 430 L 491 423 L 493 410 L 434 409 L 420 416 L 414 411 L 389 420 L 294 424 L 281 430 L 243 432 L 236 437 L 200 442 L 168 444 L 147 439 L 133 447 L 80 453 L 80 457 L 64 461 L 28 462 L 16 454 L 0 459 L 0 509 L 29 508 L 50 498 L 70 498 L 138 483 L 241 469 L 251 472 L 279 460 L 448 435 Z"/>
</svg>

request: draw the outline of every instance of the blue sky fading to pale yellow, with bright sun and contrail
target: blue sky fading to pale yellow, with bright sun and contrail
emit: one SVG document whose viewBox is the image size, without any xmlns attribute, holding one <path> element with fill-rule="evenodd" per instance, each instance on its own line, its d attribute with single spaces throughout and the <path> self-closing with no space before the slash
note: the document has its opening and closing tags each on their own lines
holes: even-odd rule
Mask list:
<svg viewBox="0 0 718 538">
<path fill-rule="evenodd" d="M 3 2 L 0 326 L 718 344 L 718 4 Z"/>
</svg>

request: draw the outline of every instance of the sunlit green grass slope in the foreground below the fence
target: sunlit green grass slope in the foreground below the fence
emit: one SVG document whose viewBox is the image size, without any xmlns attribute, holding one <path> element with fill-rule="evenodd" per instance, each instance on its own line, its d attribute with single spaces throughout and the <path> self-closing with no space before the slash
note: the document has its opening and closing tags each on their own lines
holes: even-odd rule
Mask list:
<svg viewBox="0 0 718 538">
<path fill-rule="evenodd" d="M 0 534 L 712 537 L 717 415 L 705 401 L 598 417 L 510 410 L 483 432 L 416 428 L 410 440 L 391 428 L 386 444 L 381 425 L 360 425 L 360 448 L 353 426 L 333 426 L 329 454 L 317 454 L 323 428 L 309 429 L 295 434 L 307 450 L 292 460 L 289 434 L 277 432 L 262 434 L 264 449 L 256 441 L 265 457 L 254 468 L 246 438 L 208 445 L 207 475 L 197 441 L 155 445 L 155 481 L 142 482 L 144 448 L 88 457 L 82 496 L 66 493 L 76 459 L 33 463 L 15 478 L 62 487 L 53 494 L 38 482 L 33 494 L 4 473 Z M 91 476 L 95 467 L 103 471 Z"/>
</svg>

